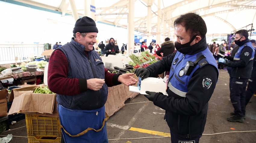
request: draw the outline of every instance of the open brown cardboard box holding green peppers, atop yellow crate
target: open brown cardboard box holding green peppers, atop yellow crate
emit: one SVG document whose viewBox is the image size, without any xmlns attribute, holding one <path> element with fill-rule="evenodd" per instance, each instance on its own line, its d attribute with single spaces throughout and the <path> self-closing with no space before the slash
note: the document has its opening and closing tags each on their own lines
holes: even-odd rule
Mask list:
<svg viewBox="0 0 256 143">
<path fill-rule="evenodd" d="M 23 113 L 46 117 L 58 117 L 56 94 L 29 93 L 40 85 L 31 85 L 16 88 L 11 91 L 10 99 L 13 99 L 9 115 Z"/>
</svg>

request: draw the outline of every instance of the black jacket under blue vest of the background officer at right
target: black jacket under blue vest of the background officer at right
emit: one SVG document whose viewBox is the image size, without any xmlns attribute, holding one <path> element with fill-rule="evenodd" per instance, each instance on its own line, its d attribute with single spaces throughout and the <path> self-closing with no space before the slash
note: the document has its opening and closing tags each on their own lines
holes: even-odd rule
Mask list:
<svg viewBox="0 0 256 143">
<path fill-rule="evenodd" d="M 244 45 L 245 43 L 250 42 L 247 38 L 246 40 L 239 43 L 239 46 Z M 240 54 L 240 60 L 233 60 L 234 57 L 232 56 L 225 56 L 226 59 L 233 61 L 232 63 L 229 63 L 228 66 L 232 67 L 231 77 L 234 78 L 250 78 L 252 67 L 253 67 L 253 61 L 250 60 L 251 56 L 245 56 L 245 52 L 248 52 L 249 55 L 252 54 L 252 49 L 248 46 L 245 46 Z"/>
</svg>

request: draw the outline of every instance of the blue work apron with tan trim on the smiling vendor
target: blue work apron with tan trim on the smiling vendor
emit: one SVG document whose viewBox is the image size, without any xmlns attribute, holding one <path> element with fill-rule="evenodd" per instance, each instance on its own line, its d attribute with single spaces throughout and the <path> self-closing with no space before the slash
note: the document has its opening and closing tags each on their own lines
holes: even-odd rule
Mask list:
<svg viewBox="0 0 256 143">
<path fill-rule="evenodd" d="M 105 105 L 95 110 L 74 110 L 58 104 L 65 143 L 108 142 Z"/>
</svg>

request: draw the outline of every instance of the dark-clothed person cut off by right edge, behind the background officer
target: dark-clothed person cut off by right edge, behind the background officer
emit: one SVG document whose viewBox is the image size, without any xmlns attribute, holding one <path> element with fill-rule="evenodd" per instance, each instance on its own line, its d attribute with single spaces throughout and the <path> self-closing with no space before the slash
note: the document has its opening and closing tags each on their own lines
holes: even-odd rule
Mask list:
<svg viewBox="0 0 256 143">
<path fill-rule="evenodd" d="M 255 46 L 255 40 L 250 40 L 254 51 L 256 50 Z M 252 68 L 252 72 L 251 72 L 251 77 L 249 78 L 249 82 L 248 82 L 248 86 L 245 92 L 245 106 L 249 103 L 252 95 L 254 94 L 254 92 L 256 91 L 256 52 L 254 54 L 254 59 L 253 59 L 253 68 Z"/>
</svg>

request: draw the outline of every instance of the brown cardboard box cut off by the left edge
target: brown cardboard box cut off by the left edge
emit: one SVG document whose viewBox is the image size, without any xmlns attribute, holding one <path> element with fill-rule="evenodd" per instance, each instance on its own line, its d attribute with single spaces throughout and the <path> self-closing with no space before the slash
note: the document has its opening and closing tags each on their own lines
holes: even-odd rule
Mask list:
<svg viewBox="0 0 256 143">
<path fill-rule="evenodd" d="M 0 91 L 0 117 L 7 115 L 7 96 L 8 90 Z"/>
</svg>

